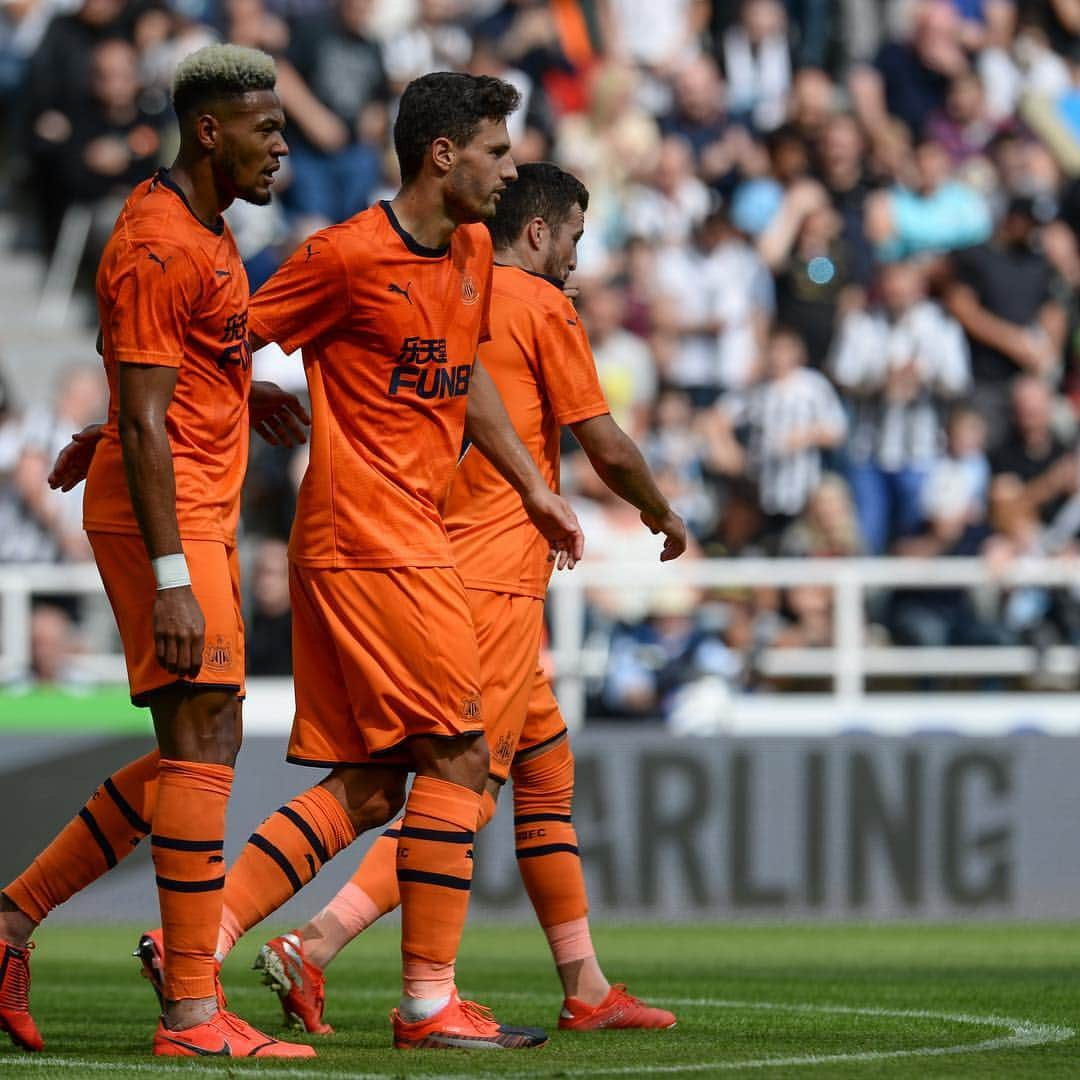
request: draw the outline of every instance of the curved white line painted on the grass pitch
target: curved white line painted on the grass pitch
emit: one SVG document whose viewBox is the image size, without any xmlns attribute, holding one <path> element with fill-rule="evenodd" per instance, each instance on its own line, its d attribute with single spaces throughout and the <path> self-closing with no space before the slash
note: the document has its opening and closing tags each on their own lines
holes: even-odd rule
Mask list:
<svg viewBox="0 0 1080 1080">
<path fill-rule="evenodd" d="M 367 994 L 381 991 L 366 991 Z M 365 994 L 366 996 L 366 994 Z M 532 997 L 522 993 L 507 993 L 500 997 Z M 1076 1036 L 1070 1027 L 1055 1024 L 1038 1024 L 1035 1021 L 1016 1020 L 1011 1016 L 977 1016 L 971 1013 L 933 1012 L 928 1009 L 882 1009 L 875 1005 L 825 1005 L 814 1002 L 781 1002 L 781 1001 L 733 1001 L 713 998 L 659 998 L 666 1004 L 681 1008 L 698 1009 L 746 1009 L 761 1012 L 816 1013 L 845 1016 L 877 1016 L 895 1017 L 897 1020 L 934 1020 L 948 1024 L 968 1024 L 980 1027 L 1005 1028 L 1009 1035 L 982 1042 L 963 1042 L 954 1047 L 916 1047 L 909 1050 L 867 1050 L 840 1054 L 804 1054 L 792 1057 L 755 1057 L 746 1061 L 696 1062 L 683 1065 L 633 1065 L 619 1068 L 590 1069 L 589 1076 L 640 1076 L 654 1072 L 732 1072 L 740 1069 L 792 1068 L 795 1066 L 841 1065 L 868 1062 L 892 1061 L 902 1057 L 944 1057 L 955 1054 L 980 1054 L 995 1050 L 1021 1050 L 1028 1047 L 1042 1047 L 1053 1042 L 1064 1042 Z M 676 1036 L 677 1038 L 677 1036 Z M 215 1065 L 203 1061 L 200 1074 L 221 1074 L 237 1076 L 237 1063 Z M 185 1062 L 170 1063 L 160 1058 L 154 1062 L 96 1062 L 78 1057 L 41 1057 L 37 1054 L 18 1054 L 14 1057 L 0 1057 L 0 1070 L 9 1068 L 53 1068 L 83 1069 L 91 1072 L 189 1072 L 190 1064 Z M 256 1066 L 257 1067 L 257 1066 Z M 270 1074 L 274 1077 L 308 1077 L 326 1078 L 326 1080 L 397 1080 L 400 1072 L 342 1072 L 340 1069 L 327 1070 L 318 1066 L 311 1068 L 274 1068 Z M 540 1076 L 542 1070 L 521 1071 L 517 1076 Z M 428 1080 L 460 1080 L 462 1074 L 450 1076 L 430 1076 Z M 474 1078 L 504 1076 L 504 1074 L 473 1072 Z"/>
</svg>

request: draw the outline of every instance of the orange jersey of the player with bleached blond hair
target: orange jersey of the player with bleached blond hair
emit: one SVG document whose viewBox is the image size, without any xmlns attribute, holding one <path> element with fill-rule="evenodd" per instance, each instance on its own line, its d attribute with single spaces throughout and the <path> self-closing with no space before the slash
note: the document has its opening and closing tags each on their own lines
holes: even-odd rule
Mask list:
<svg viewBox="0 0 1080 1080">
<path fill-rule="evenodd" d="M 161 170 L 131 193 L 97 270 L 109 414 L 83 526 L 137 532 L 120 450 L 118 365 L 178 368 L 165 415 L 186 540 L 235 542 L 247 468 L 247 274 L 224 219 L 210 228 Z"/>
</svg>

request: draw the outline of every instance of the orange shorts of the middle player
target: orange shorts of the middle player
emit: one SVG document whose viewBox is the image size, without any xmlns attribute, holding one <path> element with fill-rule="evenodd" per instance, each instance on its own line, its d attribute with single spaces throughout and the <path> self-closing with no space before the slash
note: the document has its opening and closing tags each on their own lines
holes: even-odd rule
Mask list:
<svg viewBox="0 0 1080 1080">
<path fill-rule="evenodd" d="M 480 658 L 453 567 L 289 564 L 296 765 L 408 764 L 417 735 L 482 734 Z"/>
</svg>

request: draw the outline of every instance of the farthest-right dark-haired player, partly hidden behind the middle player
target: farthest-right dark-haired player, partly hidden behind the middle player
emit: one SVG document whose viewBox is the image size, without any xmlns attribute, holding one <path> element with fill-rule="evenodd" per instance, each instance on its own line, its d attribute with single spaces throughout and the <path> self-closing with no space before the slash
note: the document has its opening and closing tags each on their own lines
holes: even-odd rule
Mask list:
<svg viewBox="0 0 1080 1080">
<path fill-rule="evenodd" d="M 589 341 L 563 284 L 575 267 L 589 193 L 553 164 L 528 164 L 488 222 L 495 244 L 491 339 L 481 359 L 544 480 L 558 485 L 559 434 L 569 426 L 605 483 L 665 536 L 661 559 L 686 549 L 686 527 L 648 465 L 612 420 Z M 495 814 L 513 780 L 518 867 L 548 936 L 565 1000 L 559 1027 L 669 1028 L 675 1016 L 610 986 L 592 946 L 589 905 L 570 810 L 573 757 L 540 669 L 551 563 L 513 488 L 480 455 L 458 465 L 445 522 L 480 646 L 484 725 L 491 757 L 481 810 Z M 286 1016 L 312 1032 L 323 1021 L 323 971 L 361 931 L 400 902 L 394 873 L 407 835 L 376 840 L 352 880 L 312 921 L 266 944 L 256 968 Z"/>
</svg>

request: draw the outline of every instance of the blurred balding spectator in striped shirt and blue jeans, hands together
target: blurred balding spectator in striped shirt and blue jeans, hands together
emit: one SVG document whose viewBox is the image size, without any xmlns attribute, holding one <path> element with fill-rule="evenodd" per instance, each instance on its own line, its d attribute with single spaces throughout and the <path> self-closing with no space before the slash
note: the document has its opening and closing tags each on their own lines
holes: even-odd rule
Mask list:
<svg viewBox="0 0 1080 1080">
<path fill-rule="evenodd" d="M 832 360 L 852 416 L 848 480 L 870 555 L 921 525 L 942 414 L 971 383 L 963 332 L 926 298 L 921 269 L 887 265 L 878 287 L 880 305 L 841 321 Z"/>
</svg>

